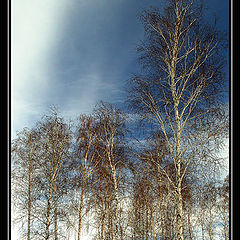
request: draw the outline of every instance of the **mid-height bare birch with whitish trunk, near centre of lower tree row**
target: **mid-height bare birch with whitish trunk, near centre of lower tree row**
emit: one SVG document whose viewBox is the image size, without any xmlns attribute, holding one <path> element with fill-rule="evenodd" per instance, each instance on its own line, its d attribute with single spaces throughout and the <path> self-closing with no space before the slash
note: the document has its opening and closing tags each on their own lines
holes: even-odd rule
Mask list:
<svg viewBox="0 0 240 240">
<path fill-rule="evenodd" d="M 113 229 L 114 239 L 123 239 L 123 223 L 121 222 L 120 189 L 123 180 L 125 159 L 125 117 L 119 109 L 111 104 L 101 102 L 94 111 L 98 128 L 101 130 L 99 144 L 101 166 L 110 178 L 113 187 Z"/>
</svg>

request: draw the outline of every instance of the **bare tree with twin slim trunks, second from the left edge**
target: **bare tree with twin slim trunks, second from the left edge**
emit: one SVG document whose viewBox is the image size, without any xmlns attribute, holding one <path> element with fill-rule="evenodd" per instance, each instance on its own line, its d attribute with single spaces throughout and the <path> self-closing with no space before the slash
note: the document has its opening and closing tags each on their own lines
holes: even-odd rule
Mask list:
<svg viewBox="0 0 240 240">
<path fill-rule="evenodd" d="M 58 239 L 58 195 L 61 184 L 59 176 L 68 158 L 71 142 L 70 125 L 59 117 L 56 109 L 50 115 L 38 122 L 39 145 L 41 147 L 39 164 L 42 168 L 43 179 L 38 179 L 47 198 L 45 239 L 50 238 L 51 211 L 54 216 L 54 238 Z"/>
</svg>

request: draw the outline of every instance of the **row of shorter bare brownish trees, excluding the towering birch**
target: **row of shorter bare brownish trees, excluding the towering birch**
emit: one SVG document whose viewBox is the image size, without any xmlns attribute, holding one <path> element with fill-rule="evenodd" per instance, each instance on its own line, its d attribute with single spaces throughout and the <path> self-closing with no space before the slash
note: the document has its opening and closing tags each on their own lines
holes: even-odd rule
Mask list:
<svg viewBox="0 0 240 240">
<path fill-rule="evenodd" d="M 176 238 L 176 169 L 164 138 L 153 133 L 133 147 L 127 124 L 126 114 L 100 103 L 75 124 L 53 109 L 18 133 L 11 178 L 22 239 L 80 240 L 87 229 L 99 240 Z M 229 182 L 217 181 L 214 171 L 208 178 L 186 173 L 184 239 L 200 232 L 202 239 L 228 239 Z"/>
</svg>

